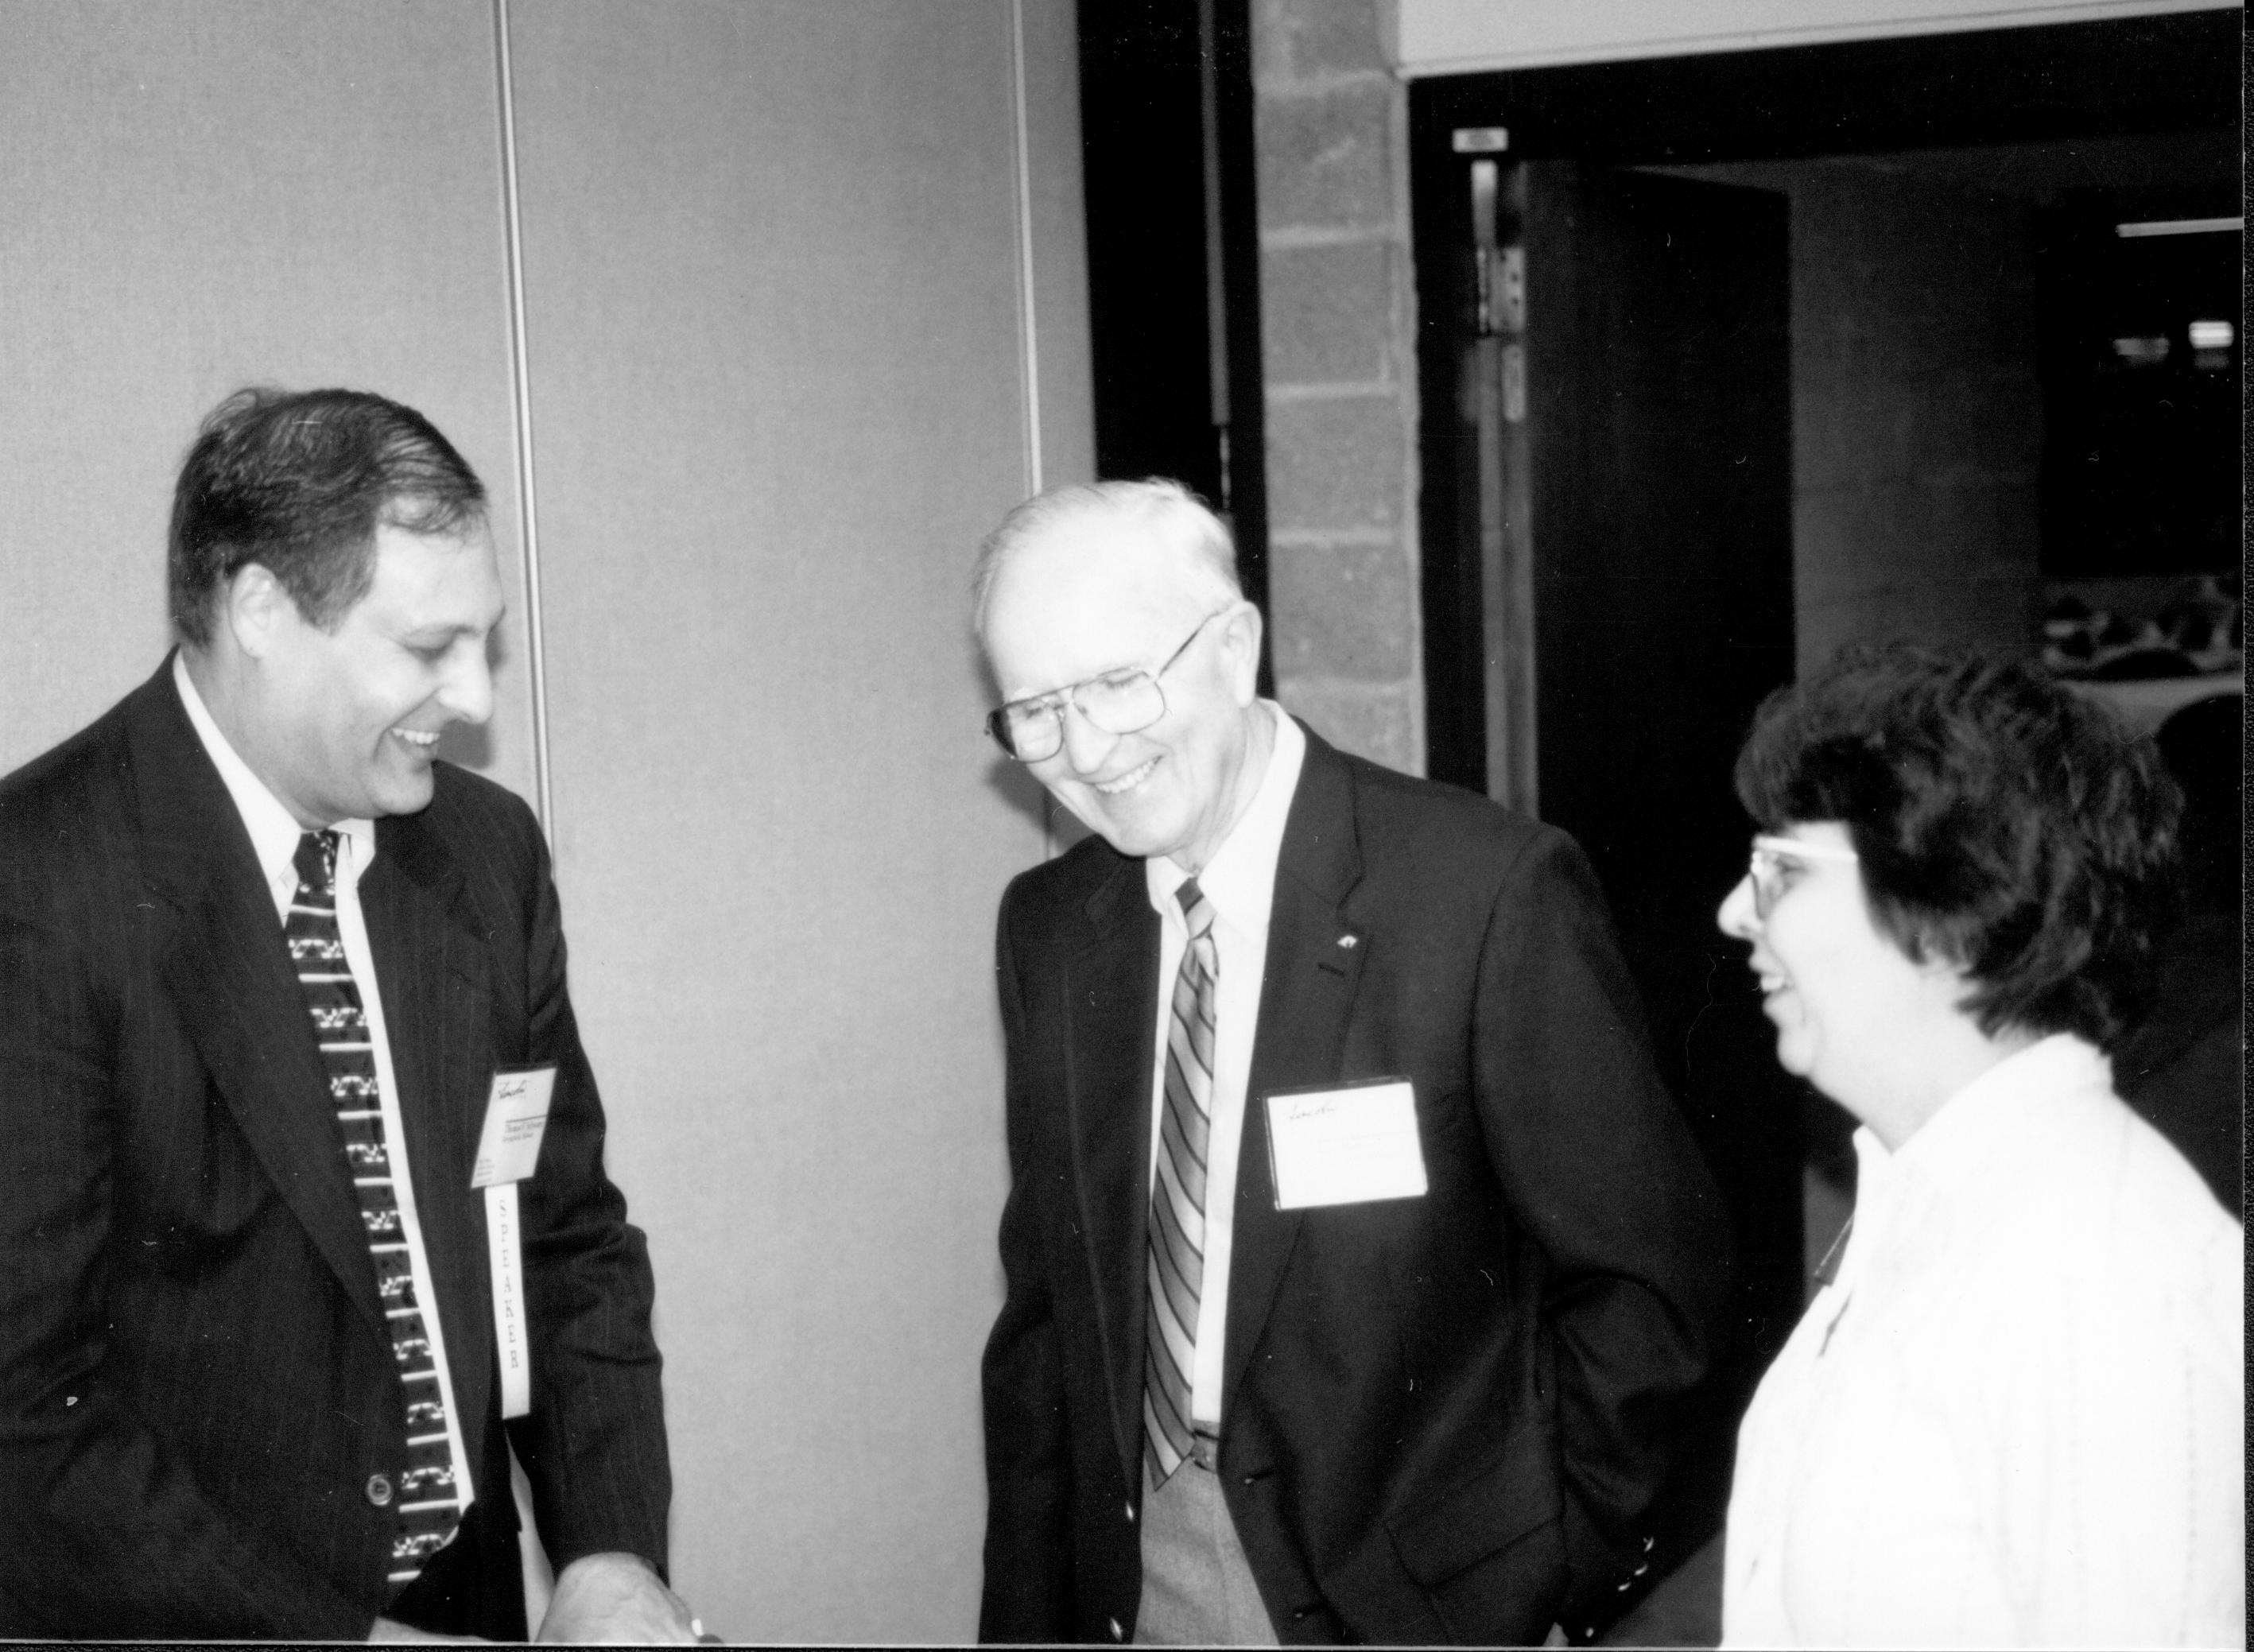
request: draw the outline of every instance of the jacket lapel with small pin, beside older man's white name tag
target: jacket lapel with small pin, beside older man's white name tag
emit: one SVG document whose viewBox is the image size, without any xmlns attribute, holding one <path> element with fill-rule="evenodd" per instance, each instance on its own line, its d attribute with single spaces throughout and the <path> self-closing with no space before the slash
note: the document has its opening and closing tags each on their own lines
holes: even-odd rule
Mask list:
<svg viewBox="0 0 2254 1652">
<path fill-rule="evenodd" d="M 1276 856 L 1260 1028 L 1253 1037 L 1251 1080 L 1244 1086 L 1222 1415 L 1228 1415 L 1226 1409 L 1235 1402 L 1237 1384 L 1260 1343 L 1301 1226 L 1298 1210 L 1276 1208 L 1267 1107 L 1260 1098 L 1339 1080 L 1348 1014 L 1361 983 L 1361 960 L 1368 956 L 1343 911 L 1346 895 L 1359 879 L 1352 773 L 1337 750 L 1307 730 L 1307 760 Z M 1341 944 L 1348 935 L 1355 944 Z"/>
</svg>

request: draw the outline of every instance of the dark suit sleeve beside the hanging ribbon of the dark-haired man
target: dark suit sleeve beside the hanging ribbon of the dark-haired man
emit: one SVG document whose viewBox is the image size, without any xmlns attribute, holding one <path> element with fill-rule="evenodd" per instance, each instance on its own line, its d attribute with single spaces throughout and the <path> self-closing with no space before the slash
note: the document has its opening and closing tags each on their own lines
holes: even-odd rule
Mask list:
<svg viewBox="0 0 2254 1652">
<path fill-rule="evenodd" d="M 512 800 L 514 802 L 514 800 Z M 656 1296 L 649 1249 L 604 1174 L 604 1113 L 566 989 L 564 920 L 548 850 L 530 838 L 525 902 L 527 1064 L 557 1066 L 539 1172 L 523 1183 L 525 1305 L 532 1415 L 509 1440 L 532 1483 L 532 1508 L 561 1571 L 582 1555 L 624 1551 L 665 1571 L 672 1469 L 660 1357 L 649 1330 Z"/>
</svg>

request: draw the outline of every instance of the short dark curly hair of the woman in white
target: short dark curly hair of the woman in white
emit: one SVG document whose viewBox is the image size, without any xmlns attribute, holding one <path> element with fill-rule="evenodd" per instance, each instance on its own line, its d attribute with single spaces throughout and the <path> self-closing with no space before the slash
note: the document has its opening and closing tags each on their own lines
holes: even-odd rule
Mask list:
<svg viewBox="0 0 2254 1652">
<path fill-rule="evenodd" d="M 1979 1028 L 2112 1048 L 2177 902 L 2182 807 L 2150 739 L 2022 660 L 1853 647 L 1738 753 L 1765 829 L 1839 820 L 1880 933 L 1954 962 Z"/>
</svg>

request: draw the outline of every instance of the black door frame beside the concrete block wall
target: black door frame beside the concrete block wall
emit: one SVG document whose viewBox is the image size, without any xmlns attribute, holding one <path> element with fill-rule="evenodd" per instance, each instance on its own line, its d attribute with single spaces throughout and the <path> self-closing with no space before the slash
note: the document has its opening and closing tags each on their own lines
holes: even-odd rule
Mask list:
<svg viewBox="0 0 2254 1652">
<path fill-rule="evenodd" d="M 1490 791 L 1479 453 L 1456 406 L 1481 302 L 1476 160 L 1695 165 L 2211 131 L 2240 122 L 2243 50 L 2245 14 L 2182 11 L 1413 81 L 1427 773 Z M 1503 149 L 1458 149 L 1458 131 L 1494 142 L 1497 128 Z"/>
</svg>

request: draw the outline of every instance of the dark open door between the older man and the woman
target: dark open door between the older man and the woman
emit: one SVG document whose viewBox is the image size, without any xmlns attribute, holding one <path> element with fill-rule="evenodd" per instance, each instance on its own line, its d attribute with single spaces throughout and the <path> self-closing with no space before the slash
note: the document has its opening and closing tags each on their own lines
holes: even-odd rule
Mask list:
<svg viewBox="0 0 2254 1652">
<path fill-rule="evenodd" d="M 1530 588 L 1519 802 L 1605 881 L 1661 1068 L 1738 1213 L 1745 1348 L 1765 1364 L 1801 1307 L 1799 1138 L 1778 1127 L 1796 1100 L 1713 913 L 1745 861 L 1738 744 L 1792 678 L 1785 210 L 1578 162 L 1528 162 L 1517 183 L 1526 421 L 1506 476 L 1526 480 L 1503 552 Z"/>
</svg>

